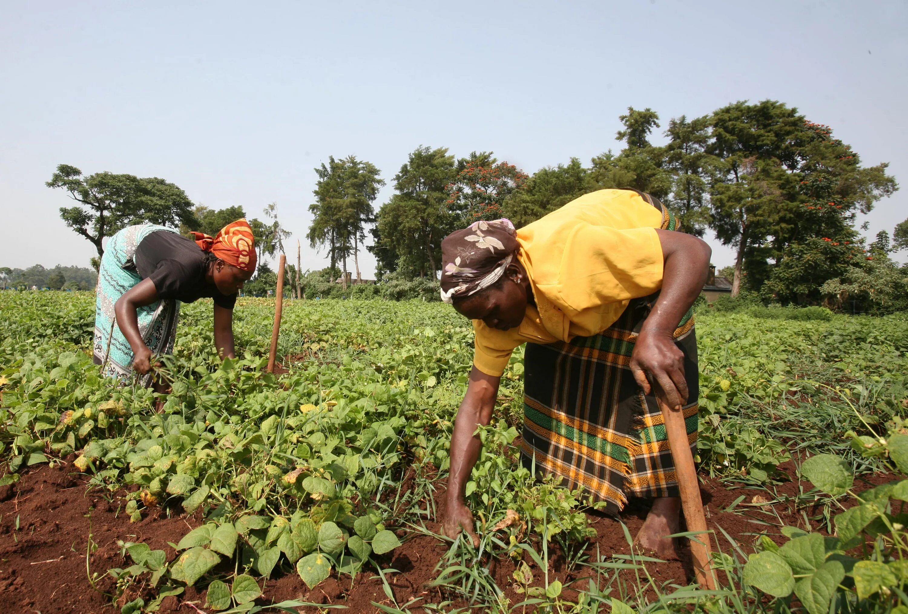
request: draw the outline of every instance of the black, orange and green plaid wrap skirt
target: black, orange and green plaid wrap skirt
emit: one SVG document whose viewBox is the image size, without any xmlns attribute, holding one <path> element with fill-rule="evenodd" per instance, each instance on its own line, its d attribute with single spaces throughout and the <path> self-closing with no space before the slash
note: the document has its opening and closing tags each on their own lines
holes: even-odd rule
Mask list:
<svg viewBox="0 0 908 614">
<path fill-rule="evenodd" d="M 527 344 L 524 354 L 522 461 L 554 473 L 590 502 L 618 512 L 628 494 L 679 496 L 675 463 L 655 395 L 645 395 L 630 371 L 640 326 L 656 295 L 630 302 L 599 335 L 570 343 Z M 696 333 L 691 312 L 677 326 L 690 403 L 683 407 L 687 438 L 696 444 Z"/>
</svg>

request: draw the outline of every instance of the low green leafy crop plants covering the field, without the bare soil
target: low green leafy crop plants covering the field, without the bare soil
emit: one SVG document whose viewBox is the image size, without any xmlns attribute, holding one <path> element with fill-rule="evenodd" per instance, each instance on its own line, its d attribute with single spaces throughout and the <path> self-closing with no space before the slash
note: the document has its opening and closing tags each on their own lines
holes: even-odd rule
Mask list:
<svg viewBox="0 0 908 614">
<path fill-rule="evenodd" d="M 161 596 L 192 584 L 206 589 L 211 609 L 252 611 L 260 607 L 263 578 L 293 573 L 314 587 L 330 574 L 355 581 L 366 567 L 379 573 L 393 600 L 383 557 L 438 520 L 435 490 L 447 471 L 451 423 L 469 371 L 472 332 L 449 307 L 290 303 L 279 347 L 289 370 L 267 375 L 262 355 L 273 302 L 239 301 L 241 357 L 224 362 L 212 350 L 210 306 L 183 306 L 175 353 L 164 367 L 173 394 L 161 414 L 151 409 L 151 391 L 98 377 L 88 353 L 94 296 L 3 293 L 0 309 L 0 483 L 14 482 L 29 465 L 75 454 L 74 466 L 98 488 L 127 488 L 123 511 L 133 520 L 158 507 L 202 519 L 174 544 L 179 554 L 170 563 L 164 551 L 123 542 L 133 565 L 108 571 L 117 593 L 143 579 L 157 596 L 130 602 L 130 611 L 153 611 Z M 856 449 L 845 435 L 868 436 L 906 411 L 903 318 L 767 326 L 764 318 L 711 313 L 699 317 L 697 335 L 702 471 L 772 484 L 781 479 L 779 463 L 806 454 L 834 453 L 861 472 L 881 466 L 880 454 Z M 522 371 L 518 352 L 503 379 L 500 412 L 480 431 L 485 446 L 467 487 L 479 549 L 451 543 L 436 583 L 452 597 L 499 611 L 620 609 L 623 601 L 600 590 L 603 574 L 638 563 L 590 560 L 587 540 L 595 531 L 581 493 L 536 481 L 519 466 Z M 606 584 L 591 583 L 576 602 L 565 601 L 548 571 L 556 544 L 571 566 L 594 566 Z M 503 557 L 521 561 L 514 580 L 526 596 L 522 604 L 509 604 L 494 580 L 492 561 Z M 232 560 L 232 572 L 217 571 L 223 560 Z M 742 565 L 730 571 L 738 585 Z M 535 567 L 542 573 L 534 575 Z M 743 586 L 750 585 L 760 586 Z M 640 608 L 685 603 L 643 594 Z M 757 593 L 747 595 L 741 603 L 752 605 L 735 609 L 755 607 Z"/>
</svg>

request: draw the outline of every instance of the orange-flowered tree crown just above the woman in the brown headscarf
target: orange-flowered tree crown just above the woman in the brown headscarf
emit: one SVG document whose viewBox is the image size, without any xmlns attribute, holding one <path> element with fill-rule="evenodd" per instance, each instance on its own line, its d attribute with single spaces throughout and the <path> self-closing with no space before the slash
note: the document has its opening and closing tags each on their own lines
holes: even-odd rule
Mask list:
<svg viewBox="0 0 908 614">
<path fill-rule="evenodd" d="M 499 162 L 491 152 L 473 151 L 469 158 L 458 161 L 458 174 L 445 188 L 451 211 L 465 223 L 477 219 L 498 219 L 505 199 L 529 179 L 506 161 Z"/>
</svg>

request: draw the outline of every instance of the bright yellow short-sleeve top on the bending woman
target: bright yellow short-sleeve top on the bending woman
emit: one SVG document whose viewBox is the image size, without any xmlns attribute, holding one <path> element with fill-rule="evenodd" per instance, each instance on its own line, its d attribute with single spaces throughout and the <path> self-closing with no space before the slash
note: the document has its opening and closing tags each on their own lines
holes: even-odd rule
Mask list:
<svg viewBox="0 0 908 614">
<path fill-rule="evenodd" d="M 570 341 L 614 324 L 630 299 L 662 287 L 662 222 L 662 211 L 637 192 L 599 190 L 518 229 L 518 259 L 536 307 L 528 305 L 509 330 L 473 320 L 473 365 L 501 375 L 523 343 Z"/>
</svg>

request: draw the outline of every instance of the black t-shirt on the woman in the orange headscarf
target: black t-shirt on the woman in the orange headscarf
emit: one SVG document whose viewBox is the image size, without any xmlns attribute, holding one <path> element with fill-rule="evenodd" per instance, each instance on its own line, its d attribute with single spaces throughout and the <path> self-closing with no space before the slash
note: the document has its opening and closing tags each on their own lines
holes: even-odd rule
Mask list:
<svg viewBox="0 0 908 614">
<path fill-rule="evenodd" d="M 192 239 L 175 232 L 157 230 L 135 249 L 135 270 L 143 279 L 151 279 L 158 297 L 175 298 L 192 303 L 199 298 L 213 298 L 214 304 L 232 309 L 236 295 L 226 296 L 208 282 L 208 265 L 214 259 Z"/>
</svg>

